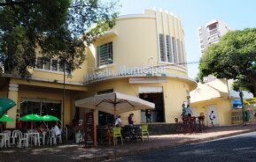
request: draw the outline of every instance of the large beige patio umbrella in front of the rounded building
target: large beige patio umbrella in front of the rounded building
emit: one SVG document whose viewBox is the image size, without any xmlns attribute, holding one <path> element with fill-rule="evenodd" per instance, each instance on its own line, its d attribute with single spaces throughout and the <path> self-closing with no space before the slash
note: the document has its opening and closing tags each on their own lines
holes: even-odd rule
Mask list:
<svg viewBox="0 0 256 162">
<path fill-rule="evenodd" d="M 153 109 L 155 104 L 120 92 L 112 92 L 76 100 L 75 106 L 96 109 L 109 114 L 121 114 L 133 110 Z"/>
</svg>

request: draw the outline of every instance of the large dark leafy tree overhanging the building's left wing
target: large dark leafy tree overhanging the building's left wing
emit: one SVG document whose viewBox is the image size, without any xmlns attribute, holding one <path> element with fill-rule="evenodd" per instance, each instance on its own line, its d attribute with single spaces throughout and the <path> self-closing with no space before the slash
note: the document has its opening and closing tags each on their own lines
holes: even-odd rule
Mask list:
<svg viewBox="0 0 256 162">
<path fill-rule="evenodd" d="M 79 68 L 86 46 L 114 26 L 115 4 L 98 0 L 0 0 L 0 65 L 4 64 L 5 73 L 29 78 L 27 69 L 35 68 L 39 53 L 43 61 L 54 58 L 68 70 Z"/>
</svg>

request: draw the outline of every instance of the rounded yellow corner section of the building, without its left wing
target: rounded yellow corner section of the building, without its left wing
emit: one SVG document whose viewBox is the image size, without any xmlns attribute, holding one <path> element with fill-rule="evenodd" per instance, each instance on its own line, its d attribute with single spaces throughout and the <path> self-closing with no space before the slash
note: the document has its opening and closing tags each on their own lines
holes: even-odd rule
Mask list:
<svg viewBox="0 0 256 162">
<path fill-rule="evenodd" d="M 163 121 L 175 122 L 182 114 L 182 103 L 197 87 L 187 75 L 183 38 L 181 19 L 173 14 L 146 10 L 144 14 L 121 16 L 112 31 L 87 49 L 88 92 L 84 97 L 107 90 L 139 97 L 144 94 L 141 89 L 161 89 Z M 99 49 L 102 46 L 108 48 Z M 109 63 L 98 65 L 100 50 L 112 50 Z M 130 113 L 121 114 L 124 123 Z M 136 122 L 142 122 L 144 114 L 133 113 Z"/>
</svg>

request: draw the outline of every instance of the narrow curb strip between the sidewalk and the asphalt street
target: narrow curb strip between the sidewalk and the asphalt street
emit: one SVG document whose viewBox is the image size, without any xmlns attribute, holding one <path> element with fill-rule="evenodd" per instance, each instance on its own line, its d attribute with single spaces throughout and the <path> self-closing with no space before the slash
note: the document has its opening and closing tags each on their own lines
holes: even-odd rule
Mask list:
<svg viewBox="0 0 256 162">
<path fill-rule="evenodd" d="M 119 152 L 118 154 L 117 154 L 116 151 L 114 151 L 110 154 L 106 154 L 106 155 L 103 155 L 101 157 L 83 158 L 83 159 L 85 159 L 86 161 L 94 161 L 94 162 L 96 162 L 96 161 L 105 161 L 105 160 L 113 160 L 115 158 L 121 158 L 121 157 L 132 156 L 132 155 L 140 155 L 142 153 L 147 153 L 147 152 L 156 151 L 156 150 L 166 150 L 166 149 L 171 149 L 171 148 L 175 148 L 175 147 L 182 146 L 182 145 L 187 145 L 187 144 L 198 144 L 198 143 L 201 143 L 201 142 L 211 141 L 211 140 L 214 140 L 214 139 L 221 139 L 221 138 L 228 137 L 228 136 L 236 136 L 236 135 L 241 135 L 241 134 L 245 134 L 245 133 L 251 133 L 253 131 L 256 131 L 256 129 L 244 130 L 244 131 L 241 131 L 241 132 L 235 132 L 235 133 L 230 133 L 230 134 L 226 134 L 226 135 L 211 136 L 211 137 L 206 137 L 206 138 L 203 138 L 203 139 L 188 140 L 188 141 L 182 142 L 180 144 L 152 147 L 152 148 L 148 148 L 148 149 L 145 149 L 145 150 L 142 150 L 142 151 L 134 150 L 134 151 L 128 151 L 128 152 L 124 152 L 124 153 Z"/>
</svg>

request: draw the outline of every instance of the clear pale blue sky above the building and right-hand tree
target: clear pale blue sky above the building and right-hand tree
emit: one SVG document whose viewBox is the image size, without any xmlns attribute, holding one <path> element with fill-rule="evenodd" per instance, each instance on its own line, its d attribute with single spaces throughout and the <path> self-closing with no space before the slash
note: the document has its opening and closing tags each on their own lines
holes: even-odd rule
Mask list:
<svg viewBox="0 0 256 162">
<path fill-rule="evenodd" d="M 143 13 L 144 9 L 163 9 L 182 18 L 188 62 L 199 61 L 198 26 L 220 19 L 232 29 L 256 27 L 255 0 L 120 0 L 120 14 Z M 198 74 L 198 63 L 189 64 L 189 77 Z"/>
</svg>

